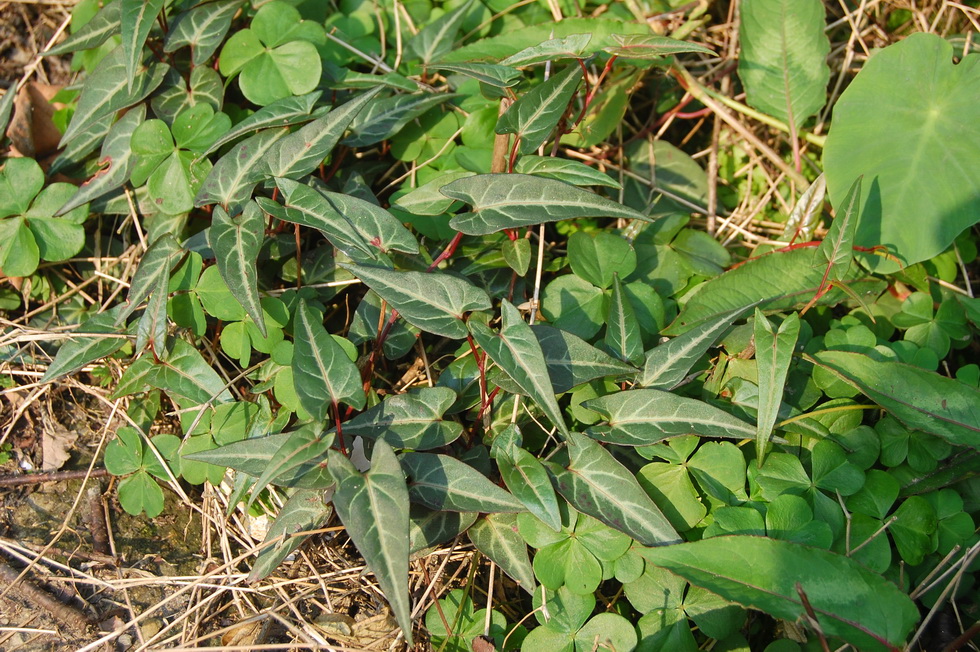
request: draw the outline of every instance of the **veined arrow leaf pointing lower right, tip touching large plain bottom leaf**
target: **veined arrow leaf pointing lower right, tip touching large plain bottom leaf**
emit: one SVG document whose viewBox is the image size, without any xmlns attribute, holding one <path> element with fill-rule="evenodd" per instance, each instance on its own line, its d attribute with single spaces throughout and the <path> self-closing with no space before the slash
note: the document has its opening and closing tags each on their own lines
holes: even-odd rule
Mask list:
<svg viewBox="0 0 980 652">
<path fill-rule="evenodd" d="M 570 461 L 555 470 L 555 484 L 575 509 L 645 546 L 680 541 L 632 471 L 585 435 L 572 432 L 567 441 Z"/>
</svg>

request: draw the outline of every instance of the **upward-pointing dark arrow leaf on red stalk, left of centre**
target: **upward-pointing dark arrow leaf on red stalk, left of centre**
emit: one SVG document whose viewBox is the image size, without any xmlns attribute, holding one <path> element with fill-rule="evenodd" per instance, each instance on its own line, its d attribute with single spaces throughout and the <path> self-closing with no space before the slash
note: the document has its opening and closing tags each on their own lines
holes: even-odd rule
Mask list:
<svg viewBox="0 0 980 652">
<path fill-rule="evenodd" d="M 341 402 L 362 409 L 366 397 L 361 374 L 327 333 L 320 313 L 301 300 L 294 320 L 293 384 L 303 408 L 318 421 L 328 419 L 331 406 Z"/>
</svg>

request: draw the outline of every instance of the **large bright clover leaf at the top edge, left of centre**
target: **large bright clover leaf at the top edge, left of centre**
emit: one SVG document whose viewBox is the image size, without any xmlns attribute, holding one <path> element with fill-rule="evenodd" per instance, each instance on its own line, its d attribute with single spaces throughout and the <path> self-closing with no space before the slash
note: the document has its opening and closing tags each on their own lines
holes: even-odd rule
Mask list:
<svg viewBox="0 0 980 652">
<path fill-rule="evenodd" d="M 256 12 L 251 27 L 228 39 L 218 70 L 225 77 L 241 73 L 242 94 L 265 106 L 316 88 L 322 64 L 314 44 L 324 40 L 322 27 L 302 20 L 295 7 L 276 0 Z"/>
</svg>

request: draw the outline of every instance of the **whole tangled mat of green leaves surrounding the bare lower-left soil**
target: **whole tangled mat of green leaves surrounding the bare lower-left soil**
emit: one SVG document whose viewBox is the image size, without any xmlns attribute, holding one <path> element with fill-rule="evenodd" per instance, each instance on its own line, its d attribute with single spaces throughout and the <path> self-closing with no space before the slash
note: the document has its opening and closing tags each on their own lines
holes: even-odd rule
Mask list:
<svg viewBox="0 0 980 652">
<path fill-rule="evenodd" d="M 349 540 L 412 649 L 965 649 L 980 10 L 892 4 L 82 0 L 4 392 L 112 406 L 129 514 L 273 517 L 258 587 Z"/>
</svg>

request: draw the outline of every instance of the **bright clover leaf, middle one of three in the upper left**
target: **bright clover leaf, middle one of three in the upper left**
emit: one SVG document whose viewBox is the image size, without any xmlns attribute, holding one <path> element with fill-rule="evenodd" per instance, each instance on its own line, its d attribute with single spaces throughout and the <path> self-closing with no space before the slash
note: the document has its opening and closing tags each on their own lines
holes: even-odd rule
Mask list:
<svg viewBox="0 0 980 652">
<path fill-rule="evenodd" d="M 210 104 L 196 104 L 174 119 L 173 129 L 162 120 L 147 120 L 133 132 L 131 146 L 138 157 L 130 180 L 146 183 L 150 199 L 168 215 L 186 213 L 211 172 L 211 162 L 198 153 L 231 128 L 231 118 Z"/>
</svg>

